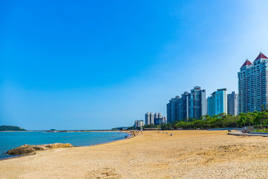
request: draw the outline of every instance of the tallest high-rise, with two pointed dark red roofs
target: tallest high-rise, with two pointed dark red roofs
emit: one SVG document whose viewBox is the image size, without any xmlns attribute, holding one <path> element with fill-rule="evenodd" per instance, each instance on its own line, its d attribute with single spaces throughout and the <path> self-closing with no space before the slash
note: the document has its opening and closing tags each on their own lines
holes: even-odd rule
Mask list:
<svg viewBox="0 0 268 179">
<path fill-rule="evenodd" d="M 268 104 L 268 58 L 261 52 L 251 63 L 248 59 L 238 72 L 238 113 L 261 111 Z"/>
</svg>

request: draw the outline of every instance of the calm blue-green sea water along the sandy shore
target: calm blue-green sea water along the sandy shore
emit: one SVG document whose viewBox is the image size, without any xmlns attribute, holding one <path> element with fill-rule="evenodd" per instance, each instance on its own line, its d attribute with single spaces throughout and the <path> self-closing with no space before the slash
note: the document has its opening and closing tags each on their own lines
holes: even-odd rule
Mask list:
<svg viewBox="0 0 268 179">
<path fill-rule="evenodd" d="M 125 138 L 123 132 L 0 132 L 0 158 L 18 146 L 70 143 L 73 146 L 90 146 Z"/>
</svg>

